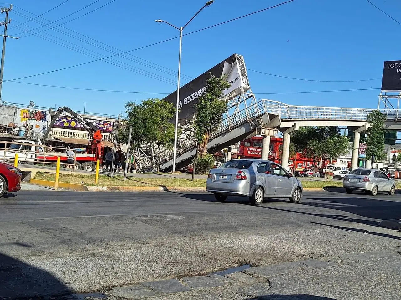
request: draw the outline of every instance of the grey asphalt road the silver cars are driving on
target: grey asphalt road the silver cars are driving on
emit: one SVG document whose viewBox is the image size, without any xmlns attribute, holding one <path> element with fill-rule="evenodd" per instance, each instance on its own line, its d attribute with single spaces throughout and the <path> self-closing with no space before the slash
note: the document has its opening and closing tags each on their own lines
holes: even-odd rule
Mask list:
<svg viewBox="0 0 401 300">
<path fill-rule="evenodd" d="M 54 292 L 89 292 L 244 263 L 338 262 L 344 253 L 401 247 L 400 232 L 377 226 L 401 218 L 401 194 L 305 192 L 300 204 L 250 206 L 207 193 L 38 190 L 1 198 L 0 210 L 0 282 L 16 278 L 0 284 L 0 295 L 16 286 L 40 294 L 45 287 L 29 276 Z"/>
</svg>

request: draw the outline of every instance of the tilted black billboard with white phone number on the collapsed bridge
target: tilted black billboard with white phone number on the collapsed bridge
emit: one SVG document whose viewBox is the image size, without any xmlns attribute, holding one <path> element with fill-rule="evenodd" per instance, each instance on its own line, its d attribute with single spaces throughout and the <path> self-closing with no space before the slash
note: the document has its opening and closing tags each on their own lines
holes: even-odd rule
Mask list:
<svg viewBox="0 0 401 300">
<path fill-rule="evenodd" d="M 179 106 L 180 112 L 178 114 L 178 119 L 180 120 L 190 120 L 196 112 L 195 104 L 198 102 L 198 97 L 206 91 L 206 80 L 210 77 L 211 73 L 215 77 L 221 77 L 227 74 L 227 81 L 231 86 L 225 90 L 223 93 L 227 95 L 235 90 L 239 89 L 243 85 L 241 74 L 239 71 L 239 66 L 237 64 L 236 54 L 231 55 L 226 58 L 210 70 L 207 70 L 201 76 L 196 77 L 194 80 L 188 82 L 180 88 L 180 98 Z M 164 100 L 168 102 L 177 103 L 177 91 L 168 95 Z"/>
</svg>

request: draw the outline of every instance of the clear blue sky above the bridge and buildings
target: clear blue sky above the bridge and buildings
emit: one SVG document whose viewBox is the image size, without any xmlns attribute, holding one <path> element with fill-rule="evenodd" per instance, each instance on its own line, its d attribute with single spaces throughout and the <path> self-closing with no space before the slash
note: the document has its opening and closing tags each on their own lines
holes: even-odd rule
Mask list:
<svg viewBox="0 0 401 300">
<path fill-rule="evenodd" d="M 119 50 L 128 51 L 177 36 L 178 30 L 166 24 L 158 24 L 154 20 L 163 19 L 176 26 L 182 26 L 205 2 L 205 0 L 116 0 L 95 12 L 63 25 L 75 32 L 70 32 L 63 27 L 54 28 L 68 32 L 71 36 L 55 30 L 28 36 L 47 29 L 42 27 L 36 31 L 32 30 L 41 26 L 34 21 L 49 24 L 95 0 L 69 0 L 44 14 L 42 17 L 46 20 L 36 18 L 34 21 L 20 25 L 34 18 L 33 14 L 43 14 L 64 1 L 15 0 L 12 2 L 14 7 L 10 12 L 12 22 L 9 25 L 8 34 L 21 38 L 7 39 L 4 80 L 30 76 L 95 59 L 45 39 L 53 39 L 76 50 L 89 50 L 88 52 L 93 56 L 110 56 L 113 54 L 110 51 L 99 49 L 75 38 L 77 36 L 89 40 L 75 32 Z M 72 20 L 109 1 L 99 0 L 51 26 Z M 399 0 L 370 1 L 393 18 L 399 17 L 397 14 L 401 10 Z M 283 0 L 215 0 L 214 4 L 205 8 L 191 22 L 186 28 L 186 33 L 280 2 Z M 5 4 L 3 2 L 2 6 Z M 2 14 L 1 17 L 4 18 L 4 15 Z M 18 25 L 20 26 L 14 28 Z M 401 59 L 400 42 L 397 39 L 400 30 L 401 25 L 385 16 L 366 0 L 295 0 L 247 18 L 184 36 L 182 74 L 194 78 L 231 54 L 238 53 L 244 56 L 247 68 L 281 76 L 312 80 L 380 78 L 383 72 L 383 61 Z M 104 44 L 89 41 L 110 50 Z M 88 50 L 82 50 L 80 47 Z M 113 59 L 118 60 L 117 63 L 125 68 L 136 68 L 136 72 L 98 61 L 20 81 L 105 90 L 159 93 L 174 91 L 178 39 L 130 53 L 138 58 L 127 55 L 128 58 L 142 64 L 118 56 Z M 150 72 L 146 74 L 153 77 L 156 74 L 159 79 L 159 76 L 163 76 L 163 81 L 138 74 L 138 68 L 142 69 L 139 72 L 145 70 Z M 258 98 L 297 105 L 377 108 L 377 95 L 381 87 L 381 80 L 343 83 L 308 82 L 268 76 L 250 70 L 248 75 L 251 88 Z M 183 83 L 188 81 L 185 78 L 182 78 Z M 378 89 L 330 93 L 261 94 L 364 88 Z M 67 90 L 14 82 L 4 82 L 2 90 L 2 100 L 6 102 L 29 103 L 33 100 L 40 106 L 66 105 L 74 110 L 83 110 L 84 102 L 86 102 L 87 112 L 106 114 L 124 112 L 126 101 L 138 101 L 155 96 L 162 97 L 163 95 Z"/>
</svg>

